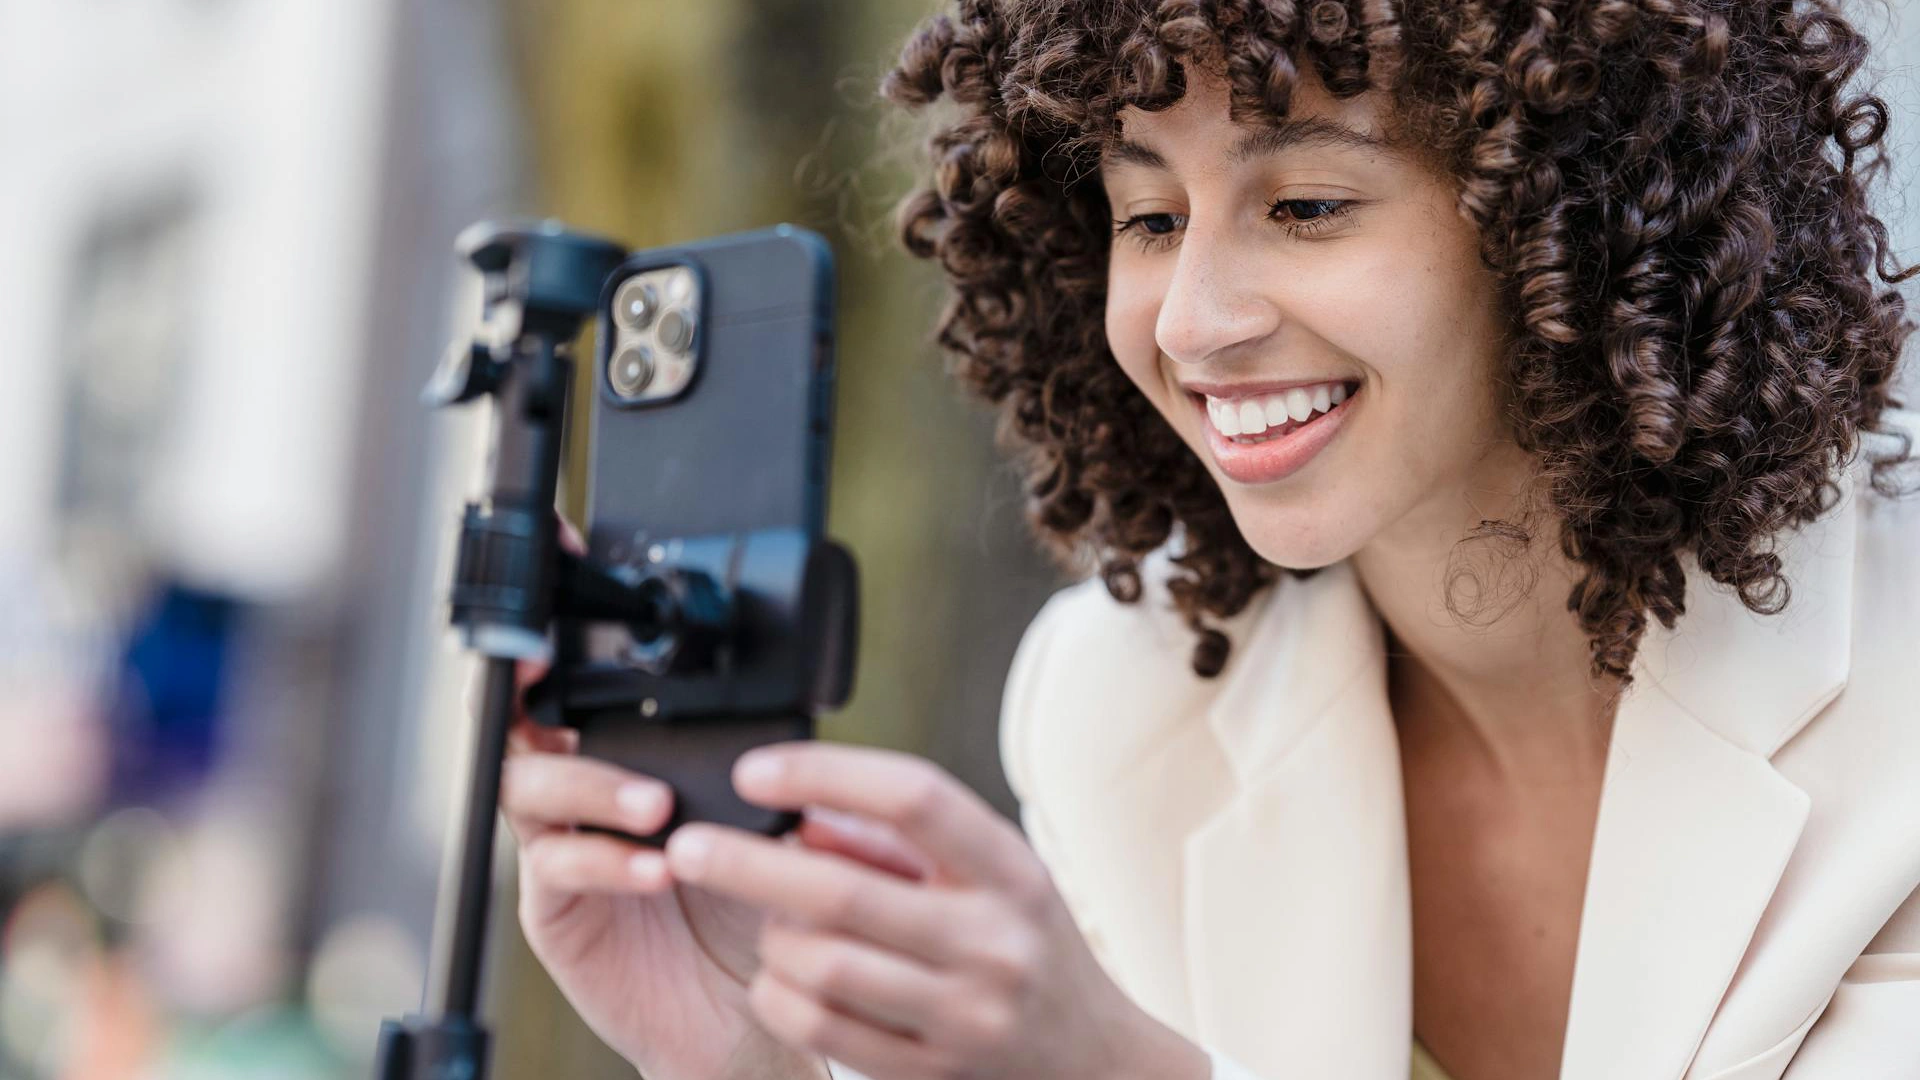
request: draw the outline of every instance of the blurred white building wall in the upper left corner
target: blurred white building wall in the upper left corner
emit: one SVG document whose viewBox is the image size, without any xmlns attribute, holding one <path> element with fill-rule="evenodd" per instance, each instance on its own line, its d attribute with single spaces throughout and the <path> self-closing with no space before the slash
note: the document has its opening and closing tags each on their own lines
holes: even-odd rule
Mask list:
<svg viewBox="0 0 1920 1080">
<path fill-rule="evenodd" d="M 12 152 L 0 175 L 0 288 L 15 356 L 36 361 L 10 365 L 0 405 L 12 463 L 0 546 L 61 540 L 69 519 L 50 511 L 69 388 L 121 365 L 113 390 L 86 390 L 121 400 L 83 415 L 156 413 L 127 450 L 142 477 L 121 507 L 156 559 L 269 600 L 338 580 L 349 502 L 338 448 L 361 377 L 338 350 L 361 334 L 374 265 L 367 177 L 382 108 L 380 85 L 353 75 L 384 67 L 392 12 L 371 0 L 6 8 L 4 131 L 33 152 Z M 129 259 L 144 263 L 88 263 L 142 231 L 150 250 Z M 90 371 L 54 361 L 79 356 Z"/>
</svg>

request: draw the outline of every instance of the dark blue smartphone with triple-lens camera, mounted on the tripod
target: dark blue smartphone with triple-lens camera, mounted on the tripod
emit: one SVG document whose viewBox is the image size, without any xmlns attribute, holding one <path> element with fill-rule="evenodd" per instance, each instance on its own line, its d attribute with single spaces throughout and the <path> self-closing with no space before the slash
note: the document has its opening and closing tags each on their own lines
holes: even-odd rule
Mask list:
<svg viewBox="0 0 1920 1080">
<path fill-rule="evenodd" d="M 831 250 L 778 225 L 637 252 L 595 327 L 588 557 L 670 575 L 682 623 L 662 650 L 626 623 L 559 621 L 557 719 L 582 753 L 672 784 L 672 821 L 620 836 L 660 846 L 687 821 L 783 834 L 799 813 L 743 801 L 732 769 L 812 738 L 851 690 L 852 559 L 824 536 Z M 724 625 L 701 623 L 714 590 Z"/>
</svg>

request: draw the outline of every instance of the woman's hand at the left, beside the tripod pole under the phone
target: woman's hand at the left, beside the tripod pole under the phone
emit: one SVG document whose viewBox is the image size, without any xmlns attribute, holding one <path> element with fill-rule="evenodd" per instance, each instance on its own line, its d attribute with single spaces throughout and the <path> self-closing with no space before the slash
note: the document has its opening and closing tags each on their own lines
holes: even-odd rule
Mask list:
<svg viewBox="0 0 1920 1080">
<path fill-rule="evenodd" d="M 576 534 L 563 536 L 580 550 Z M 520 686 L 538 675 L 522 665 Z M 561 992 L 649 1080 L 824 1080 L 822 1057 L 774 1038 L 749 1005 L 760 909 L 674 882 L 655 847 L 574 830 L 657 832 L 672 790 L 576 748 L 576 732 L 520 717 L 501 778 L 520 846 L 520 928 Z M 920 872 L 910 853 L 833 815 L 808 813 L 768 844 L 839 851 L 877 874 Z"/>
</svg>

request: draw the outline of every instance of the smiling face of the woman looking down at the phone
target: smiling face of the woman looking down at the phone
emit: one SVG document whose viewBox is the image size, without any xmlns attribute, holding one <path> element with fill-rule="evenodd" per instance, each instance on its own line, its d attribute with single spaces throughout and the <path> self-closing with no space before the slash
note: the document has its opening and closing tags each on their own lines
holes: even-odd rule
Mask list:
<svg viewBox="0 0 1920 1080">
<path fill-rule="evenodd" d="M 1100 165 L 1108 344 L 1283 567 L 1450 528 L 1511 465 L 1494 275 L 1453 184 L 1369 142 L 1382 117 L 1304 73 L 1286 125 L 1238 125 L 1192 73 L 1177 106 L 1127 110 Z"/>
</svg>

